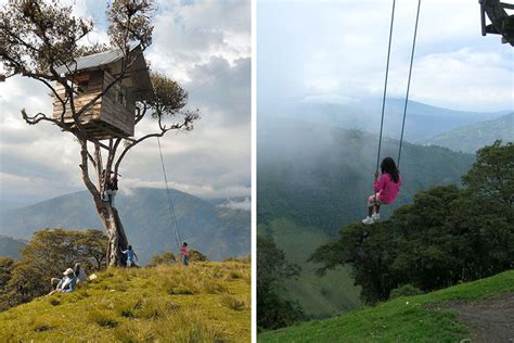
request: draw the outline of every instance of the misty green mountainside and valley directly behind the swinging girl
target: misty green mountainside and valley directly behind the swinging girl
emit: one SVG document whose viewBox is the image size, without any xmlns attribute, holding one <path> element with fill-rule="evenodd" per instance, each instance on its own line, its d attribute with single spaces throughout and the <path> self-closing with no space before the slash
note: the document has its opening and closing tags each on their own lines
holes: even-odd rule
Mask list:
<svg viewBox="0 0 514 343">
<path fill-rule="evenodd" d="M 398 143 L 385 139 L 381 156 L 397 160 Z M 343 226 L 365 216 L 376 154 L 376 135 L 286 119 L 258 126 L 258 234 L 273 237 L 286 258 L 301 266 L 298 279 L 286 287 L 310 317 L 340 314 L 359 304 L 360 291 L 347 270 L 318 278 L 318 266 L 306 261 Z M 473 162 L 473 155 L 447 148 L 403 143 L 403 186 L 396 203 L 383 207 L 383 217 L 410 203 L 420 190 L 459 185 Z"/>
</svg>

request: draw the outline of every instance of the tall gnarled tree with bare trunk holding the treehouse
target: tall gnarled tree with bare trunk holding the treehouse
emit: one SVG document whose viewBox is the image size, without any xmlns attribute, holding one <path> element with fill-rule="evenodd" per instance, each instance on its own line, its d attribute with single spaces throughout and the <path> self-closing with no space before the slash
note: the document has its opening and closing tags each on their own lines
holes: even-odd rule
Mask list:
<svg viewBox="0 0 514 343">
<path fill-rule="evenodd" d="M 22 110 L 22 116 L 29 125 L 52 123 L 62 131 L 73 135 L 79 143 L 82 181 L 92 195 L 97 213 L 108 236 L 110 265 L 125 264 L 125 256 L 120 251 L 127 249 L 128 240 L 118 212 L 103 199 L 103 170 L 114 170 L 117 174 L 124 157 L 133 147 L 150 138 L 163 137 L 170 130 L 190 130 L 193 122 L 200 117 L 197 110 L 183 109 L 188 93 L 176 81 L 153 73 L 152 94 L 137 103 L 134 123 L 138 125 L 143 118 L 151 117 L 157 126 L 155 132 L 139 138 L 111 137 L 105 142 L 88 132 L 80 122 L 80 115 L 120 82 L 134 64 L 136 56 L 130 53 L 131 47 L 137 45 L 144 51 L 152 43 L 153 11 L 151 0 L 113 1 L 106 12 L 111 38 L 107 47 L 86 47 L 82 42 L 92 31 L 93 23 L 73 16 L 72 8 L 61 5 L 57 1 L 10 1 L 0 11 L 0 62 L 7 71 L 3 79 L 22 75 L 40 81 L 61 104 L 63 110 L 60 117 L 46 113 L 29 115 L 25 110 Z M 87 53 L 106 49 L 121 51 L 119 73 L 90 101 L 81 106 L 76 105 L 76 61 Z M 67 71 L 65 74 L 57 72 L 63 66 Z M 64 93 L 60 93 L 57 87 L 62 87 Z M 69 115 L 67 112 L 70 112 L 74 125 L 65 123 L 65 115 Z M 171 123 L 166 123 L 166 118 L 171 118 Z M 102 158 L 103 155 L 106 158 Z"/>
</svg>

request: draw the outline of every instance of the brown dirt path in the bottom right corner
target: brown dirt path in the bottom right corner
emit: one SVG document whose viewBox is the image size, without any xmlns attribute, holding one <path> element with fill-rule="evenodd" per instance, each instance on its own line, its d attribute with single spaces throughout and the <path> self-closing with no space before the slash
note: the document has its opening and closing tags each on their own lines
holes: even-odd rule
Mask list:
<svg viewBox="0 0 514 343">
<path fill-rule="evenodd" d="M 459 318 L 475 328 L 473 342 L 514 343 L 514 293 L 471 303 L 454 303 Z"/>
</svg>

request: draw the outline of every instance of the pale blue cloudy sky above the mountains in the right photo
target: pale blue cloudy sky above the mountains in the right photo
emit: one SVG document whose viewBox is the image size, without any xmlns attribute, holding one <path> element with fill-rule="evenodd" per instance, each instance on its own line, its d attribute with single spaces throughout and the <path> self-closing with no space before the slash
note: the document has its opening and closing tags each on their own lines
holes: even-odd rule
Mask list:
<svg viewBox="0 0 514 343">
<path fill-rule="evenodd" d="M 382 99 L 391 4 L 259 0 L 258 107 Z M 387 92 L 391 98 L 406 93 L 416 5 L 413 0 L 396 1 Z M 514 49 L 501 43 L 500 36 L 481 36 L 478 1 L 422 1 L 411 100 L 496 112 L 514 110 L 513 90 Z"/>
</svg>

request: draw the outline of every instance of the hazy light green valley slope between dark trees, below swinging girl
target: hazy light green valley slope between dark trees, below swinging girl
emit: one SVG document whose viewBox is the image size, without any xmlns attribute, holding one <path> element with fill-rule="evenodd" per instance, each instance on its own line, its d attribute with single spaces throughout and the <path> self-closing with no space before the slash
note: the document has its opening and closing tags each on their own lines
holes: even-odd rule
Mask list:
<svg viewBox="0 0 514 343">
<path fill-rule="evenodd" d="M 307 316 L 326 318 L 356 309 L 360 306 L 360 288 L 354 285 L 354 278 L 347 269 L 330 270 L 319 278 L 319 267 L 306 261 L 314 250 L 326 243 L 329 237 L 320 228 L 301 227 L 285 218 L 274 219 L 270 232 L 277 245 L 285 253 L 287 261 L 301 267 L 297 280 L 287 280 L 290 296 L 298 300 Z"/>
</svg>

